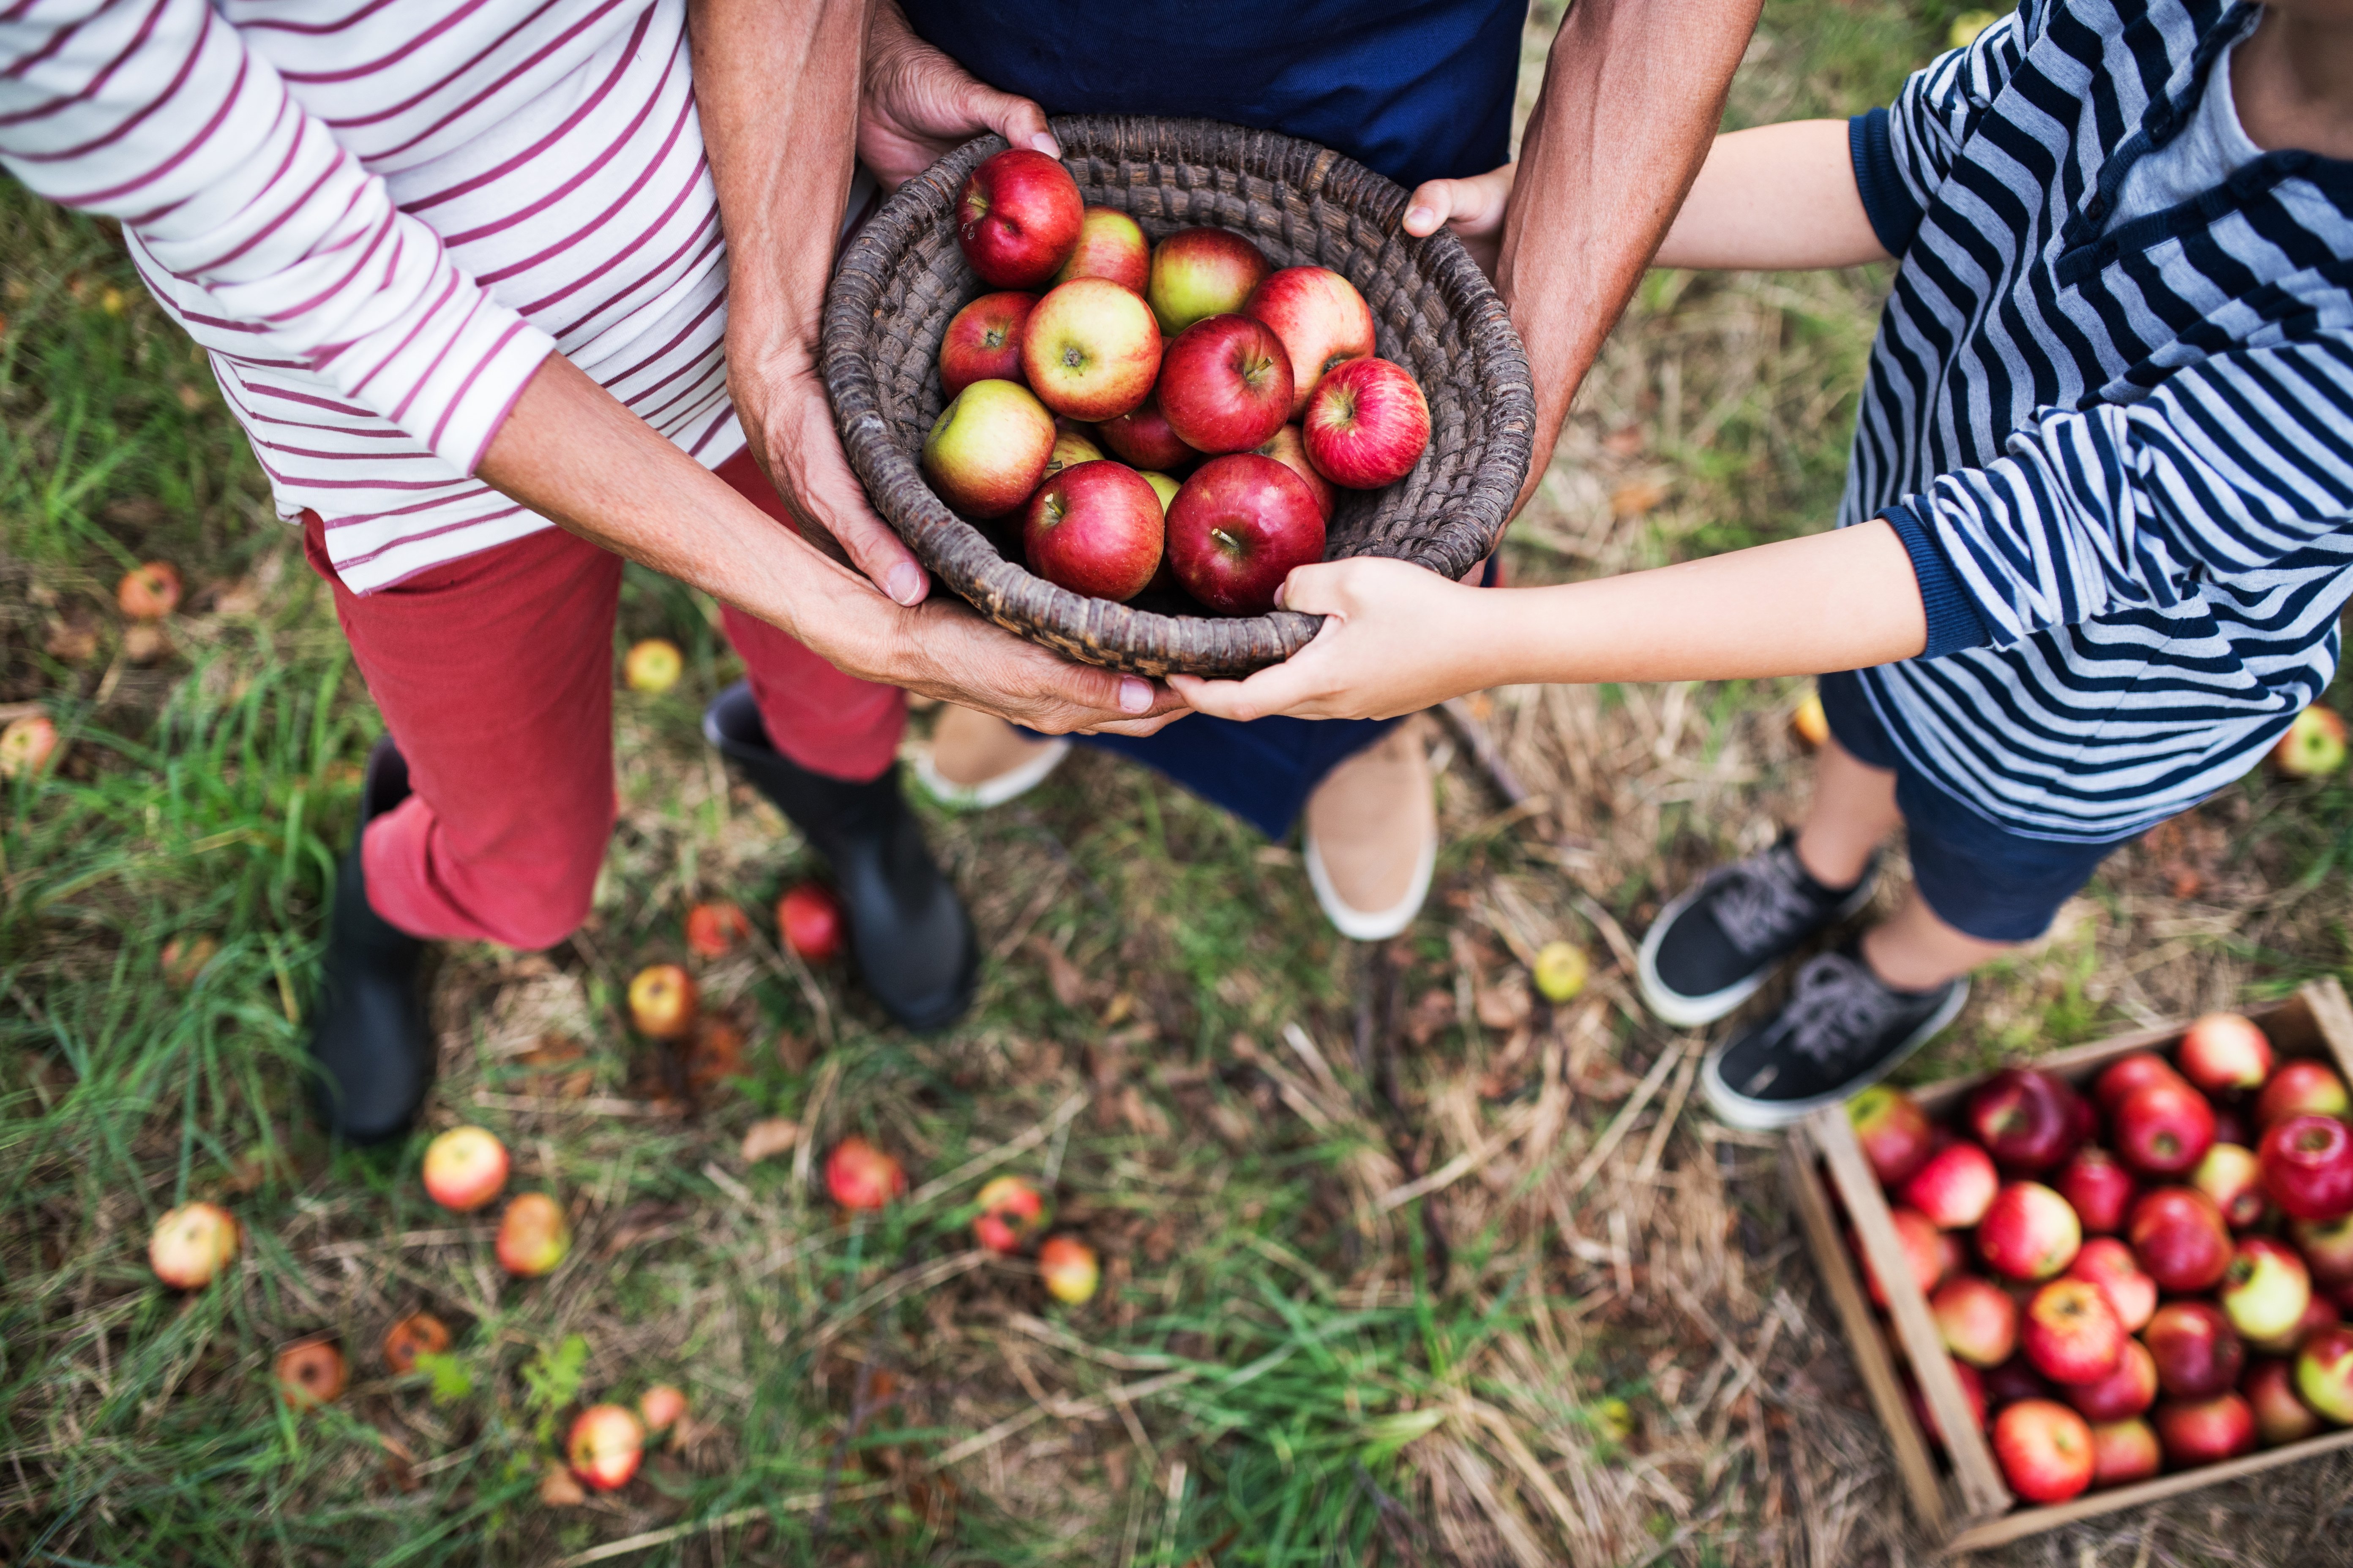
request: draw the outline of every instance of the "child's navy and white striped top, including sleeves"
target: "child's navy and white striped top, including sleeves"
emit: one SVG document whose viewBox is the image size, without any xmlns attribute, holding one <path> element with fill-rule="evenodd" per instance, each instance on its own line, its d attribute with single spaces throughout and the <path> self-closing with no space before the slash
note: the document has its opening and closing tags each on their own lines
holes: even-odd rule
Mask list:
<svg viewBox="0 0 2353 1568">
<path fill-rule="evenodd" d="M 1840 524 L 1929 614 L 1864 670 L 1948 832 L 2108 842 L 2238 778 L 2353 592 L 2353 165 L 2266 153 L 2115 221 L 2259 12 L 2026 0 L 1854 122 L 1901 259 Z"/>
</svg>

